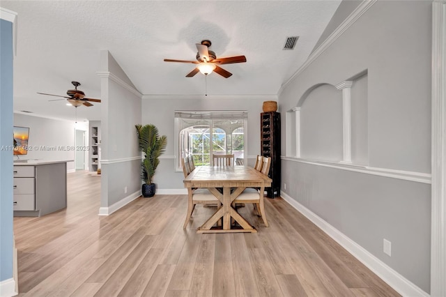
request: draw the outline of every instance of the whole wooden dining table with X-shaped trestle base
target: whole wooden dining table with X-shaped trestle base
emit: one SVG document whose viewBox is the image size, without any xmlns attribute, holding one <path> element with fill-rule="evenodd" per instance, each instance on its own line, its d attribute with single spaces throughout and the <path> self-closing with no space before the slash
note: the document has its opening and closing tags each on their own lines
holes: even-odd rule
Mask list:
<svg viewBox="0 0 446 297">
<path fill-rule="evenodd" d="M 247 165 L 197 166 L 184 179 L 185 188 L 208 188 L 222 206 L 198 228 L 197 233 L 256 232 L 233 208 L 233 201 L 245 188 L 270 187 L 272 179 Z M 220 226 L 215 224 L 222 219 Z M 232 219 L 238 223 L 231 224 Z"/>
</svg>

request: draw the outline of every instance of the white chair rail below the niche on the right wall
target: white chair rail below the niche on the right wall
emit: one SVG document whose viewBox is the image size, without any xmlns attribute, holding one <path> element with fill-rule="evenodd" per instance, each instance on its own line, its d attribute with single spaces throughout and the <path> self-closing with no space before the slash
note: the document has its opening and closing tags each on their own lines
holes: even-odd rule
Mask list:
<svg viewBox="0 0 446 297">
<path fill-rule="evenodd" d="M 404 171 L 404 170 L 376 168 L 376 167 L 353 165 L 353 164 L 348 165 L 348 164 L 337 163 L 337 162 L 299 159 L 299 158 L 291 158 L 291 157 L 282 157 L 282 160 L 300 162 L 300 163 L 311 164 L 311 165 L 316 165 L 316 166 L 330 167 L 330 168 L 341 169 L 341 170 L 348 170 L 351 172 L 360 172 L 363 174 L 372 174 L 372 175 L 377 175 L 377 176 L 398 178 L 398 179 L 403 179 L 406 181 L 415 181 L 417 183 L 431 183 L 431 174 L 425 174 L 422 172 L 408 172 L 408 171 Z"/>
</svg>

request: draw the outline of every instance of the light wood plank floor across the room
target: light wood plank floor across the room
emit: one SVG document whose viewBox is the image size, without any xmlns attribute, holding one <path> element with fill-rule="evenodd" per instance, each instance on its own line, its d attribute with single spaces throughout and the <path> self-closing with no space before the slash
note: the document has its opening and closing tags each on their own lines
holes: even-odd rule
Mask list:
<svg viewBox="0 0 446 297">
<path fill-rule="evenodd" d="M 399 296 L 281 198 L 266 199 L 270 227 L 197 234 L 215 208 L 186 195 L 138 198 L 98 216 L 100 177 L 68 174 L 68 208 L 14 218 L 20 296 Z"/>
</svg>

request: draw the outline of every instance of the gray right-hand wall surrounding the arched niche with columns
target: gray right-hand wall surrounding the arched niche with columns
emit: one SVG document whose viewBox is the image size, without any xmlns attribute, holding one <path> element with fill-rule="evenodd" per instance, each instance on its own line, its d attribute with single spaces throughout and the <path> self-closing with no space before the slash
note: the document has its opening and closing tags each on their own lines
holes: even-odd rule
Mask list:
<svg viewBox="0 0 446 297">
<path fill-rule="evenodd" d="M 429 174 L 431 1 L 376 2 L 286 85 L 279 94 L 279 105 L 289 111 L 312 87 L 321 83 L 336 86 L 365 71 L 367 76 L 358 79 L 357 89 L 352 89 L 352 102 L 355 96 L 363 98 L 360 106 L 352 103 L 352 123 L 362 131 L 355 130 L 353 161 L 383 170 Z M 360 121 L 357 113 L 365 120 Z M 282 135 L 292 129 L 284 123 Z M 313 125 L 314 133 L 317 128 Z M 308 133 L 312 128 L 305 129 Z M 302 147 L 311 150 L 304 140 Z M 286 141 L 282 139 L 283 148 Z M 325 160 L 320 147 L 311 145 L 321 153 L 314 158 Z M 286 195 L 429 292 L 428 183 L 310 165 L 293 158 L 283 160 L 282 180 L 287 183 L 286 190 L 282 185 Z M 392 242 L 392 257 L 383 253 L 383 238 Z"/>
</svg>

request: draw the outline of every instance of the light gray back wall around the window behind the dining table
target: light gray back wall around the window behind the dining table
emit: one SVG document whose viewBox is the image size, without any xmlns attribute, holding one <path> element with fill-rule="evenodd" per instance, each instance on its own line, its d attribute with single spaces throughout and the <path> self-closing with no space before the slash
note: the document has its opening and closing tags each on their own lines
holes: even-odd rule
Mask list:
<svg viewBox="0 0 446 297">
<path fill-rule="evenodd" d="M 199 96 L 197 96 L 199 97 Z M 274 98 L 146 98 L 142 100 L 142 123 L 153 123 L 160 135 L 167 136 L 167 149 L 160 160 L 160 165 L 154 176 L 157 188 L 182 189 L 183 172 L 175 171 L 174 113 L 176 110 L 246 110 L 247 150 L 248 157 L 255 158 L 260 153 L 260 113 L 264 100 Z M 253 159 L 248 164 L 254 165 Z"/>
</svg>

